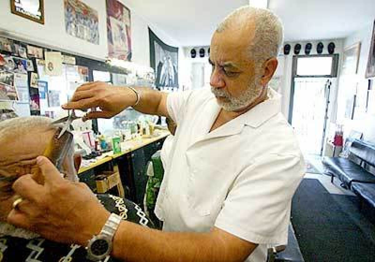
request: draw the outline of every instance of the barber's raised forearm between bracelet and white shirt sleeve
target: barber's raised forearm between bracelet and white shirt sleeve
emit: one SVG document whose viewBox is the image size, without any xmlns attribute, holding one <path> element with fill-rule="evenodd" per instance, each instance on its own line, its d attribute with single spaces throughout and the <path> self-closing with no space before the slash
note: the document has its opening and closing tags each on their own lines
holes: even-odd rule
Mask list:
<svg viewBox="0 0 375 262">
<path fill-rule="evenodd" d="M 167 93 L 150 88 L 137 87 L 135 89 L 139 95 L 138 104 L 133 106 L 135 110 L 148 115 L 168 116 L 166 110 Z"/>
</svg>

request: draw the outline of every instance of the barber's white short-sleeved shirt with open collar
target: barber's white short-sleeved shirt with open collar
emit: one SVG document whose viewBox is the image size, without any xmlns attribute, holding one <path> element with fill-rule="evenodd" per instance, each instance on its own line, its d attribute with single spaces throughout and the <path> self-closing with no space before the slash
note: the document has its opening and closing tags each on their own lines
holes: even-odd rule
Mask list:
<svg viewBox="0 0 375 262">
<path fill-rule="evenodd" d="M 259 244 L 246 261 L 266 261 L 287 244 L 291 198 L 305 165 L 280 96 L 209 132 L 220 107 L 210 89 L 168 95 L 177 124 L 155 213 L 165 231 L 213 226 Z"/>
</svg>

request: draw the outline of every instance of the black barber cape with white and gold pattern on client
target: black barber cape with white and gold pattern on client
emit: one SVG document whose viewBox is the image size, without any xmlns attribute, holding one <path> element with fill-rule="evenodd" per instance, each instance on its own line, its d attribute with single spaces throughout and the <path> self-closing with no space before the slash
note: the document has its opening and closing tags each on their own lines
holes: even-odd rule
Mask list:
<svg viewBox="0 0 375 262">
<path fill-rule="evenodd" d="M 118 214 L 123 220 L 154 227 L 137 204 L 113 195 L 97 196 L 109 212 Z M 60 244 L 44 238 L 0 237 L 0 262 L 89 262 L 86 255 L 86 249 L 75 244 Z M 108 256 L 103 262 L 118 260 Z"/>
</svg>

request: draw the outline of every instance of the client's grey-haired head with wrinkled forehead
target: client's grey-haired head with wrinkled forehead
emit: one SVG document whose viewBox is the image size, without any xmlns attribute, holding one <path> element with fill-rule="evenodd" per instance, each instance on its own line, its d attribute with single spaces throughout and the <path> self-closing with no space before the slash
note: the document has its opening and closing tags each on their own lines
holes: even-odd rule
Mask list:
<svg viewBox="0 0 375 262">
<path fill-rule="evenodd" d="M 12 185 L 17 177 L 25 174 L 39 174 L 37 156 L 43 155 L 59 128 L 45 117 L 20 117 L 0 122 L 0 235 L 6 218 L 12 210 L 15 193 Z M 68 174 L 68 179 L 77 180 L 74 168 L 74 145 L 62 160 L 60 171 Z"/>
</svg>

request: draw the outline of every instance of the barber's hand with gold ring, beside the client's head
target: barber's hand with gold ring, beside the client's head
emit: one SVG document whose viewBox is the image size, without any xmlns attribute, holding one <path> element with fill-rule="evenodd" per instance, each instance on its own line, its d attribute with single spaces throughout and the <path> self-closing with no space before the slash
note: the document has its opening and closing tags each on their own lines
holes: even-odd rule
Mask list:
<svg viewBox="0 0 375 262">
<path fill-rule="evenodd" d="M 50 240 L 86 246 L 110 214 L 86 184 L 62 179 L 43 156 L 37 158 L 37 164 L 45 178 L 44 185 L 37 184 L 30 174 L 13 184 L 23 201 L 9 213 L 8 222 Z"/>
</svg>

